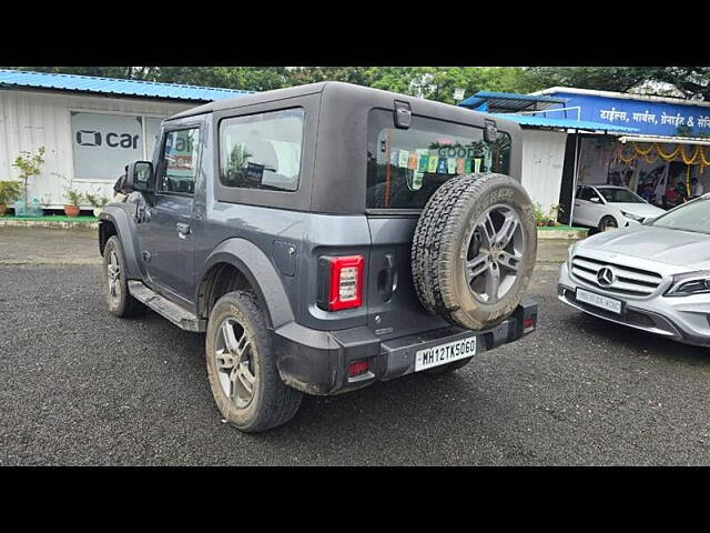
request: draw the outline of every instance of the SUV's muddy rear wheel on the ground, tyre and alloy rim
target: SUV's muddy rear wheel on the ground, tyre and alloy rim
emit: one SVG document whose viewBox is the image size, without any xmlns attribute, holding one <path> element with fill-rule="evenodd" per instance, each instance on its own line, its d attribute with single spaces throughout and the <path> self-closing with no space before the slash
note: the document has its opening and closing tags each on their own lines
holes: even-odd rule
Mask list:
<svg viewBox="0 0 710 533">
<path fill-rule="evenodd" d="M 253 433 L 296 414 L 303 393 L 281 380 L 271 333 L 253 293 L 234 291 L 220 298 L 205 336 L 212 394 L 231 425 Z"/>
</svg>

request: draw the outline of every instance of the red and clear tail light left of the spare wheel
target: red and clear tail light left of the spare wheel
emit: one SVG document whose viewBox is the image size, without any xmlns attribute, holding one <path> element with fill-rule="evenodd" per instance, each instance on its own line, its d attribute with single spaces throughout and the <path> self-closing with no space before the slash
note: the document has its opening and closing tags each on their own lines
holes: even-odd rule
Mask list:
<svg viewBox="0 0 710 533">
<path fill-rule="evenodd" d="M 362 255 L 327 257 L 318 260 L 317 304 L 326 311 L 359 308 L 363 304 Z"/>
</svg>

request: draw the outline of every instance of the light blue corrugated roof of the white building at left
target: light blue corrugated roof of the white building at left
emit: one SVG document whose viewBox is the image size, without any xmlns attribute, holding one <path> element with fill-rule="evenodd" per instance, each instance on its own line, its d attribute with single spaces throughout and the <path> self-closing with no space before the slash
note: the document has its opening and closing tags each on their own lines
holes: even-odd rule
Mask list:
<svg viewBox="0 0 710 533">
<path fill-rule="evenodd" d="M 201 102 L 211 102 L 213 100 L 223 100 L 253 93 L 253 91 L 241 91 L 236 89 L 183 86 L 180 83 L 159 83 L 155 81 L 121 80 L 116 78 L 97 78 L 93 76 L 26 72 L 20 70 L 0 70 L 0 88 L 3 87 L 57 89 L 61 91 L 80 91 L 98 94 L 144 98 L 166 98 L 172 100 L 191 100 Z"/>
</svg>

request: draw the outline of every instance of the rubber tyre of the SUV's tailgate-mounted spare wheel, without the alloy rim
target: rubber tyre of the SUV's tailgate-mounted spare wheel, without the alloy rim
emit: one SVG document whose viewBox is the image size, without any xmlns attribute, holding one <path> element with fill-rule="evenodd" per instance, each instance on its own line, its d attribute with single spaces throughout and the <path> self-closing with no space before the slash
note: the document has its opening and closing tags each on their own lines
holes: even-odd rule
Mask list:
<svg viewBox="0 0 710 533">
<path fill-rule="evenodd" d="M 469 290 L 464 263 L 476 222 L 495 205 L 516 212 L 525 250 L 513 285 L 496 303 L 485 303 Z M 453 324 L 480 330 L 515 311 L 530 282 L 536 254 L 534 209 L 523 185 L 504 174 L 462 174 L 439 187 L 419 217 L 412 244 L 412 278 L 425 310 Z"/>
</svg>

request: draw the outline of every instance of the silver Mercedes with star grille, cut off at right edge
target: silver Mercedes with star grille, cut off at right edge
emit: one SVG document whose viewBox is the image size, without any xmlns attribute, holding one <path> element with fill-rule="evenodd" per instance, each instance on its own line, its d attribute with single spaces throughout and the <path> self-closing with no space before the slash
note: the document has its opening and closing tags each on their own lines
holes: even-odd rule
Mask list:
<svg viewBox="0 0 710 533">
<path fill-rule="evenodd" d="M 572 244 L 558 298 L 611 322 L 710 346 L 710 194 Z"/>
</svg>

